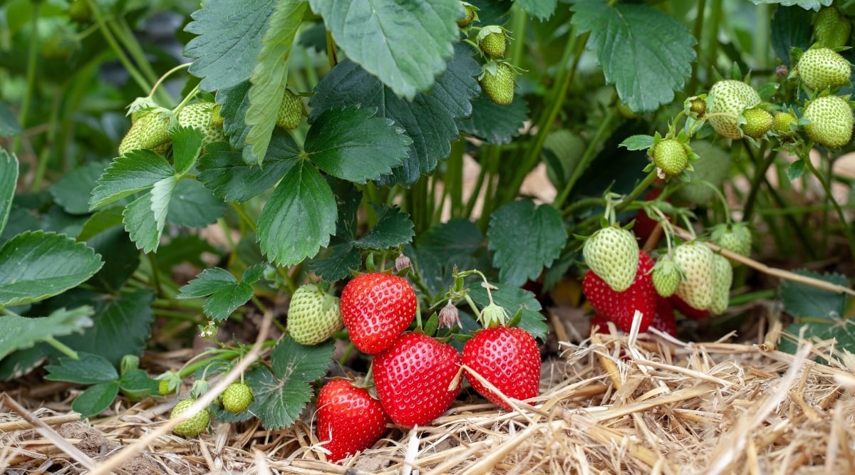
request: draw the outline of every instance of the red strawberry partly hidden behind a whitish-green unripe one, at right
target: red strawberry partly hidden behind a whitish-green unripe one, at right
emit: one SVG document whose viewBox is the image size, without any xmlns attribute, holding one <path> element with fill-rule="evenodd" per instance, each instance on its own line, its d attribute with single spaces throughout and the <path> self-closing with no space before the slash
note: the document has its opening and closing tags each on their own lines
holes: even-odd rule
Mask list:
<svg viewBox="0 0 855 475">
<path fill-rule="evenodd" d="M 615 322 L 617 328 L 629 331 L 633 325 L 635 310 L 641 312 L 639 331 L 647 331 L 656 314 L 656 289 L 651 279 L 653 260 L 643 250 L 638 251 L 639 264 L 635 279 L 627 290 L 611 290 L 593 271 L 585 275 L 582 281 L 582 293 L 598 314 Z"/>
</svg>

